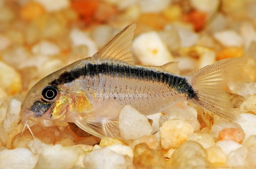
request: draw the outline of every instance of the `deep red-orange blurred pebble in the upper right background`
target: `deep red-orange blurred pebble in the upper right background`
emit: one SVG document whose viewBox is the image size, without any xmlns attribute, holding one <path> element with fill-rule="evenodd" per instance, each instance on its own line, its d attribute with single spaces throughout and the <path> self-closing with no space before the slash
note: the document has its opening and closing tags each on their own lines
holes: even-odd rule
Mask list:
<svg viewBox="0 0 256 169">
<path fill-rule="evenodd" d="M 192 11 L 187 15 L 187 21 L 193 24 L 195 31 L 203 29 L 207 19 L 207 14 L 200 11 Z"/>
</svg>

